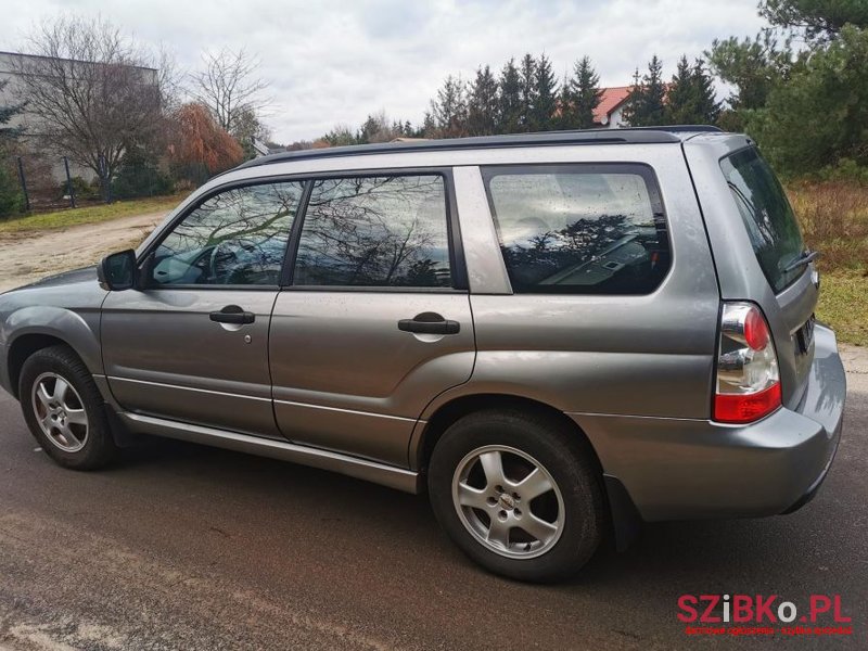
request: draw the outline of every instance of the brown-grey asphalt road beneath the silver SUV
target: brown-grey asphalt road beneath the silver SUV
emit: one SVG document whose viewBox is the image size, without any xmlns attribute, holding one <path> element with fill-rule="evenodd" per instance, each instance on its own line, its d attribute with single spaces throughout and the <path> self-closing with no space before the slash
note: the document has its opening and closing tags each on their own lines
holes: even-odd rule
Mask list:
<svg viewBox="0 0 868 651">
<path fill-rule="evenodd" d="M 850 382 L 806 508 L 649 525 L 554 587 L 475 567 L 424 498 L 322 471 L 159 439 L 62 470 L 2 394 L 0 648 L 868 648 L 868 374 Z M 678 596 L 723 592 L 838 593 L 854 635 L 686 638 Z"/>
</svg>

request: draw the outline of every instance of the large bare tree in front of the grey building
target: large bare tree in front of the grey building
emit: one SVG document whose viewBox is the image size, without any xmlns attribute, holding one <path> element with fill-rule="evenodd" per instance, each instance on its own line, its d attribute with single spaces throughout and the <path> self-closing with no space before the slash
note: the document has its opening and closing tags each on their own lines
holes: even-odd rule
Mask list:
<svg viewBox="0 0 868 651">
<path fill-rule="evenodd" d="M 161 74 L 154 59 L 101 18 L 43 23 L 28 44 L 36 56 L 14 63 L 33 116 L 28 132 L 92 169 L 108 196 L 125 151 L 159 135 L 170 71 Z"/>
</svg>

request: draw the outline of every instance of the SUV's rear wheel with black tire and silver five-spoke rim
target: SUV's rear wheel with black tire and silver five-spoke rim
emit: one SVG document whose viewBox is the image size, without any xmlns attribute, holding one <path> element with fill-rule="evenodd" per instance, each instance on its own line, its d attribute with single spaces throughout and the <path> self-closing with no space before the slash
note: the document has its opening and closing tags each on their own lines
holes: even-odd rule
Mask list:
<svg viewBox="0 0 868 651">
<path fill-rule="evenodd" d="M 434 447 L 432 508 L 452 541 L 490 572 L 563 580 L 587 563 L 603 536 L 607 515 L 595 459 L 587 442 L 557 418 L 519 410 L 471 413 Z"/>
</svg>

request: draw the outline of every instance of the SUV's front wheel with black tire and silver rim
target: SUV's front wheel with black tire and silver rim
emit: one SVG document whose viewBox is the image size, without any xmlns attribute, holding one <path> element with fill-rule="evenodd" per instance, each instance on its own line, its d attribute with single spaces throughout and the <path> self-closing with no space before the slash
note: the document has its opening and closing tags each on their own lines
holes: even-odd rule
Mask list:
<svg viewBox="0 0 868 651">
<path fill-rule="evenodd" d="M 102 396 L 71 348 L 51 346 L 28 357 L 18 399 L 30 433 L 58 464 L 95 470 L 115 459 L 118 449 Z"/>
</svg>

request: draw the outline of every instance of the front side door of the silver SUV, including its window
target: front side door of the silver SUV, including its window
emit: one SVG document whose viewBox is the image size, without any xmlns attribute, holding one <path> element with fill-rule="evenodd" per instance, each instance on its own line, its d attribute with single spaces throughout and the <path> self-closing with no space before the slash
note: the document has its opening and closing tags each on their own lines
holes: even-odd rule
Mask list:
<svg viewBox="0 0 868 651">
<path fill-rule="evenodd" d="M 103 304 L 105 372 L 130 411 L 279 436 L 268 329 L 303 183 L 206 195 L 157 240 L 142 290 Z"/>
</svg>

